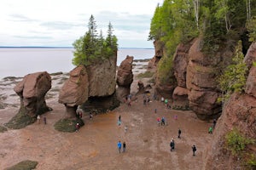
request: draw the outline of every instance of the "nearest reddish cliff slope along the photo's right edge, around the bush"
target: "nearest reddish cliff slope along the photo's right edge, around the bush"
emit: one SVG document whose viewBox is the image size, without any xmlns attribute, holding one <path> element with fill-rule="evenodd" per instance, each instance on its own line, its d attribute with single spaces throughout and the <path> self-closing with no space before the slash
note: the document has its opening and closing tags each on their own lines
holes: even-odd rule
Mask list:
<svg viewBox="0 0 256 170">
<path fill-rule="evenodd" d="M 250 55 L 250 61 L 247 64 L 251 68 L 247 77 L 246 91 L 244 94 L 232 94 L 224 105 L 223 114 L 219 117 L 213 133 L 212 144 L 207 150 L 204 169 L 245 169 L 244 165 L 249 156 L 256 157 L 255 144 L 247 145 L 246 155 L 240 159 L 232 156 L 225 144 L 225 135 L 234 128 L 246 138 L 256 139 L 256 67 L 252 66 L 253 61 L 256 61 L 256 54 L 252 51 L 253 47 L 255 43 L 247 52 L 247 56 Z M 247 57 L 245 61 L 248 61 Z"/>
</svg>

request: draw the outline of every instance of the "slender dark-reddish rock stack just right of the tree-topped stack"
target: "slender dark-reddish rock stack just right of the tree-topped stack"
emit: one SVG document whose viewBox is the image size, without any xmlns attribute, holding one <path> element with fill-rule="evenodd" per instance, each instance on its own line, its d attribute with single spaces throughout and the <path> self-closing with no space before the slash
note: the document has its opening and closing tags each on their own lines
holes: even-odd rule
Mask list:
<svg viewBox="0 0 256 170">
<path fill-rule="evenodd" d="M 116 94 L 119 101 L 125 101 L 125 98 L 130 94 L 131 83 L 133 82 L 132 62 L 133 56 L 127 55 L 119 66 L 116 80 L 118 84 Z"/>
</svg>

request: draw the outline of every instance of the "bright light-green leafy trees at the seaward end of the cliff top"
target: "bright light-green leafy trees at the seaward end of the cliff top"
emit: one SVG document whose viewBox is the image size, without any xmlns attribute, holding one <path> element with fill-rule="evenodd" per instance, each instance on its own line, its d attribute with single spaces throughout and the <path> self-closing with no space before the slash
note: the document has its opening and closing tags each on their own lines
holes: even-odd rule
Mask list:
<svg viewBox="0 0 256 170">
<path fill-rule="evenodd" d="M 154 11 L 148 39 L 164 42 L 166 55 L 171 56 L 178 43 L 189 42 L 198 34 L 192 0 L 165 0 Z"/>
</svg>

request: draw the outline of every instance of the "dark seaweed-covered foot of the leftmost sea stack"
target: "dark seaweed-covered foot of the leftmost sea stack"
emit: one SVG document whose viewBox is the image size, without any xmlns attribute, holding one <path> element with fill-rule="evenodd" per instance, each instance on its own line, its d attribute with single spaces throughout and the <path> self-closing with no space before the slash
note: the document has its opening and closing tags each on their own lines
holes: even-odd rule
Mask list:
<svg viewBox="0 0 256 170">
<path fill-rule="evenodd" d="M 32 124 L 36 121 L 35 117 L 31 117 L 25 114 L 25 108 L 21 107 L 20 111 L 7 123 L 4 125 L 13 129 L 20 129 Z"/>
</svg>

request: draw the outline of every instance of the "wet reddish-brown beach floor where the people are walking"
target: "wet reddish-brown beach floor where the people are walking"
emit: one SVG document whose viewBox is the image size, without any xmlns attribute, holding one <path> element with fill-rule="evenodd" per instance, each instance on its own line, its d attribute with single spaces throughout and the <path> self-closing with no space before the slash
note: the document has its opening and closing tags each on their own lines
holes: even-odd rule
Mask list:
<svg viewBox="0 0 256 170">
<path fill-rule="evenodd" d="M 146 71 L 147 63 L 136 64 L 131 94 L 137 92 L 137 74 Z M 175 169 L 198 170 L 202 167 L 207 143 L 212 135 L 207 133 L 211 122 L 199 120 L 192 111 L 167 110 L 159 100 L 143 105 L 143 94 L 131 106 L 121 104 L 106 114 L 83 116 L 84 127 L 78 133 L 61 133 L 55 122 L 64 117 L 65 107 L 58 103 L 58 92 L 67 74 L 52 76 L 52 88 L 46 95 L 46 103 L 53 109 L 44 114 L 47 124 L 37 122 L 19 130 L 8 129 L 0 133 L 0 167 L 11 167 L 24 160 L 38 161 L 36 169 Z M 13 88 L 22 80 L 0 81 L 0 125 L 9 122 L 20 108 L 20 99 Z M 148 79 L 143 79 L 148 83 Z M 154 86 L 150 89 L 154 94 Z M 154 110 L 157 110 L 154 113 Z M 121 116 L 121 125 L 117 125 Z M 166 125 L 158 125 L 157 117 L 164 116 Z M 177 119 L 174 117 L 177 116 Z M 125 126 L 128 127 L 125 133 Z M 177 130 L 182 130 L 177 139 Z M 174 138 L 175 150 L 170 151 Z M 117 143 L 125 141 L 125 153 L 119 153 Z M 192 156 L 191 146 L 197 151 Z"/>
</svg>

